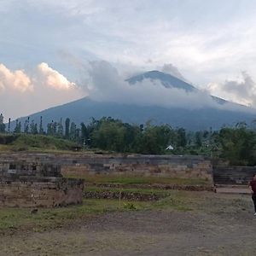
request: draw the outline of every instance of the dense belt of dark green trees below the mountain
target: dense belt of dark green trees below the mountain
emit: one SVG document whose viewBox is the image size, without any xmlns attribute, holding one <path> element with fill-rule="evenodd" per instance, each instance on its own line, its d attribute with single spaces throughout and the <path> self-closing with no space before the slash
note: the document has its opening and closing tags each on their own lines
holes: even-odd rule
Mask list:
<svg viewBox="0 0 256 256">
<path fill-rule="evenodd" d="M 231 165 L 256 165 L 256 130 L 247 128 L 245 123 L 223 127 L 219 131 L 186 131 L 183 128 L 172 128 L 170 125 L 152 125 L 150 122 L 146 125 L 131 125 L 119 119 L 104 117 L 100 120 L 91 118 L 88 124 L 81 123 L 79 126 L 69 118 L 64 122 L 52 121 L 46 126 L 46 131 L 42 118 L 39 124 L 29 118 L 23 125 L 16 120 L 13 132 L 9 131 L 10 125 L 8 129 L 6 126 L 3 116 L 0 116 L 0 132 L 12 134 L 14 137 L 20 134 L 33 135 L 22 138 L 24 143 L 30 142 L 33 146 L 42 143 L 42 140 L 44 142 L 42 137 L 40 142 L 36 139 L 38 135 L 44 135 L 51 137 L 50 141 L 53 138 L 66 139 L 79 144 L 81 148 L 100 148 L 108 152 L 203 154 L 228 160 Z M 47 144 L 47 139 L 44 143 Z M 55 143 L 59 145 L 57 148 L 71 147 L 67 147 L 67 143 L 61 144 L 60 141 Z M 166 150 L 170 145 L 173 150 Z"/>
</svg>

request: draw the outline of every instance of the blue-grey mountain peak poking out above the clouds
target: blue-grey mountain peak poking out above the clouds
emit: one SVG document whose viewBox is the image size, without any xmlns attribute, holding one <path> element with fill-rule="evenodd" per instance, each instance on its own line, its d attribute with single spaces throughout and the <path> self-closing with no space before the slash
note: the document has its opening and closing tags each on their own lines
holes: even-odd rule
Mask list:
<svg viewBox="0 0 256 256">
<path fill-rule="evenodd" d="M 163 73 L 158 70 L 148 71 L 146 73 L 139 74 L 130 79 L 126 79 L 129 84 L 136 84 L 142 82 L 144 79 L 160 81 L 166 88 L 177 88 L 186 91 L 197 90 L 193 85 L 184 82 L 182 79 L 178 79 L 169 73 Z"/>
</svg>

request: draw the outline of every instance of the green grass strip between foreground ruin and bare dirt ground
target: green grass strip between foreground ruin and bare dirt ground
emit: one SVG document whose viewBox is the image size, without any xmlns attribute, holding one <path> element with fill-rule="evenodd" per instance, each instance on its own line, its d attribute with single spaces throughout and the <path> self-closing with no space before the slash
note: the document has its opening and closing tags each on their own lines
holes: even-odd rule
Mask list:
<svg viewBox="0 0 256 256">
<path fill-rule="evenodd" d="M 148 191 L 147 193 L 149 193 Z M 171 193 L 168 199 L 157 202 L 86 199 L 82 205 L 61 208 L 38 208 L 38 213 L 32 214 L 28 208 L 0 208 L 0 234 L 30 230 L 41 232 L 73 224 L 75 221 L 91 218 L 106 212 L 130 210 L 175 209 L 188 211 L 179 192 Z"/>
</svg>

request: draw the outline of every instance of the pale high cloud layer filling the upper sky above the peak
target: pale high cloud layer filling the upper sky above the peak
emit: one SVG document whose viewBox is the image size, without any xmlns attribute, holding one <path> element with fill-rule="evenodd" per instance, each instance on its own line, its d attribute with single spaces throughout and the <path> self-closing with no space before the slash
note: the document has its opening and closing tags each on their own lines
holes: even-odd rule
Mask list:
<svg viewBox="0 0 256 256">
<path fill-rule="evenodd" d="M 0 44 L 1 40 L 9 42 L 9 55 L 16 55 L 21 45 L 19 54 L 24 62 L 27 58 L 22 51 L 38 57 L 37 63 L 42 56 L 47 56 L 46 62 L 56 63 L 54 52 L 60 49 L 82 58 L 90 52 L 98 59 L 148 69 L 172 62 L 201 86 L 240 70 L 253 74 L 256 68 L 256 3 L 252 0 L 3 3 L 9 6 L 9 13 L 0 24 Z M 32 37 L 17 31 L 30 31 Z"/>
</svg>

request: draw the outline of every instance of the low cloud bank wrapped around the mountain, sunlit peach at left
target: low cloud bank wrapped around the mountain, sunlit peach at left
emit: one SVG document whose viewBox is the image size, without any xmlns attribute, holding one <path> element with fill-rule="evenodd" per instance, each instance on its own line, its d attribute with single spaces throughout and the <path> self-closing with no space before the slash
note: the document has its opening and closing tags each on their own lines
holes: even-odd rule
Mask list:
<svg viewBox="0 0 256 256">
<path fill-rule="evenodd" d="M 84 96 L 89 96 L 96 102 L 140 106 L 246 110 L 233 103 L 218 104 L 212 99 L 212 94 L 233 102 L 256 106 L 256 84 L 247 73 L 242 73 L 241 79 L 237 81 L 211 83 L 207 90 L 186 92 L 183 89 L 166 88 L 158 80 L 143 79 L 142 82 L 129 84 L 125 81 L 127 77 L 107 61 L 76 61 L 75 65 L 80 71 L 83 70 L 83 79 L 85 78 L 79 83 L 70 81 L 46 62 L 38 64 L 30 72 L 10 70 L 0 64 L 0 112 L 6 118 L 14 119 Z M 162 71 L 183 79 L 177 67 L 172 64 L 164 65 Z"/>
</svg>

